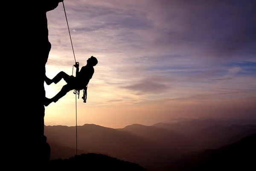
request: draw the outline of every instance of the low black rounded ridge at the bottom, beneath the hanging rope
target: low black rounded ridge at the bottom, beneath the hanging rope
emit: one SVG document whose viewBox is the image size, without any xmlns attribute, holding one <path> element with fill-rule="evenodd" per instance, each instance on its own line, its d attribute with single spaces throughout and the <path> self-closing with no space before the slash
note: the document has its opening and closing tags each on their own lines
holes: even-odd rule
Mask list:
<svg viewBox="0 0 256 171">
<path fill-rule="evenodd" d="M 81 154 L 69 159 L 56 159 L 49 162 L 49 169 L 84 168 L 87 171 L 147 171 L 147 169 L 132 162 L 123 161 L 103 154 Z"/>
</svg>

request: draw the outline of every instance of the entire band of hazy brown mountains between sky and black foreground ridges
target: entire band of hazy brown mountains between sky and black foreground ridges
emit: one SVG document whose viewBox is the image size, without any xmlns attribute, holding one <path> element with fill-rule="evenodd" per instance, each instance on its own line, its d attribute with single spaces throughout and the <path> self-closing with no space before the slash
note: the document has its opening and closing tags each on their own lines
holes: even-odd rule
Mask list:
<svg viewBox="0 0 256 171">
<path fill-rule="evenodd" d="M 151 171 L 161 171 L 182 154 L 206 148 L 219 148 L 256 133 L 254 132 L 256 125 L 232 125 L 233 122 L 227 121 L 224 126 L 212 125 L 214 123 L 216 122 L 209 119 L 205 122 L 202 119 L 176 124 L 163 123 L 167 126 L 171 125 L 171 128 L 173 125 L 176 128 L 181 126 L 187 130 L 191 127 L 190 131 L 176 131 L 140 124 L 128 125 L 121 129 L 84 124 L 77 127 L 78 148 L 79 151 L 86 153 L 107 154 L 121 160 L 138 163 L 145 168 L 150 168 Z M 72 156 L 76 154 L 76 127 L 45 126 L 45 135 L 49 142 L 55 144 L 52 146 L 51 159 L 61 156 L 54 157 L 54 151 L 58 153 L 58 150 L 54 148 L 63 147 L 63 149 L 66 148 L 64 151 L 70 151 L 63 154 L 60 157 L 62 159 L 67 158 L 72 151 Z"/>
</svg>

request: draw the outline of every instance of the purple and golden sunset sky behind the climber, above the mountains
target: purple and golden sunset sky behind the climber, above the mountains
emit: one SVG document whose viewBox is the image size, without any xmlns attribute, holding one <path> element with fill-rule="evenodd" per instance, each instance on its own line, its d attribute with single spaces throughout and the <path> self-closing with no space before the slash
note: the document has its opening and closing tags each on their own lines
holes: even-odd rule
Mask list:
<svg viewBox="0 0 256 171">
<path fill-rule="evenodd" d="M 123 128 L 175 118 L 256 117 L 254 0 L 64 0 L 80 68 L 98 59 L 77 124 Z M 75 64 L 63 4 L 47 12 L 46 75 Z M 65 85 L 45 84 L 52 98 Z M 82 92 L 81 92 L 82 93 Z M 76 124 L 76 95 L 45 107 L 45 125 Z"/>
</svg>

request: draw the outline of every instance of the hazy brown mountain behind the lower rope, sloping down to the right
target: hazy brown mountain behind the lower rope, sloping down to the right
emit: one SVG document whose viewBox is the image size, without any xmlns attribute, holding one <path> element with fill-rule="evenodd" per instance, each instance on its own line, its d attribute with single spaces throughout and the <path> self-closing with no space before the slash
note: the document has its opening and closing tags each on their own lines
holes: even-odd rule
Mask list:
<svg viewBox="0 0 256 171">
<path fill-rule="evenodd" d="M 164 146 L 126 131 L 93 124 L 78 126 L 77 131 L 79 149 L 110 154 L 146 168 L 174 156 Z M 76 148 L 76 127 L 46 126 L 44 132 L 52 143 Z"/>
</svg>

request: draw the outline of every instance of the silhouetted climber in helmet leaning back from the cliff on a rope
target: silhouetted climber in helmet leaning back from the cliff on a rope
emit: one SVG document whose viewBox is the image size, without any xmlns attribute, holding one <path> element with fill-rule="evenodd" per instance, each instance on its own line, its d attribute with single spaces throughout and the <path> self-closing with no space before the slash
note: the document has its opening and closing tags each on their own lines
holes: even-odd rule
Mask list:
<svg viewBox="0 0 256 171">
<path fill-rule="evenodd" d="M 63 78 L 64 81 L 67 82 L 66 85 L 64 85 L 61 89 L 61 91 L 56 94 L 52 99 L 48 99 L 45 97 L 44 106 L 48 106 L 50 103 L 58 101 L 58 99 L 61 99 L 61 97 L 65 96 L 70 90 L 83 90 L 87 84 L 89 83 L 90 79 L 93 76 L 94 73 L 94 66 L 98 64 L 98 60 L 91 56 L 87 60 L 87 65 L 82 67 L 79 72 L 79 63 L 76 62 L 74 67 L 76 67 L 76 77 L 73 75 L 68 75 L 65 72 L 61 71 L 59 72 L 54 78 L 49 79 L 45 75 L 45 82 L 47 85 L 52 84 L 53 82 L 57 84 L 61 79 Z"/>
</svg>

